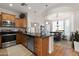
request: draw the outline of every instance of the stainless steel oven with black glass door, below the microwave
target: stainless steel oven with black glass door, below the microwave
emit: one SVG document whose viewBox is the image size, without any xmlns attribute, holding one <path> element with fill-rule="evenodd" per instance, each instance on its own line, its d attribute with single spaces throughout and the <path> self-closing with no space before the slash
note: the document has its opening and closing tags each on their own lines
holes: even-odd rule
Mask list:
<svg viewBox="0 0 79 59">
<path fill-rule="evenodd" d="M 2 33 L 2 47 L 6 48 L 12 45 L 16 45 L 16 33 L 3 32 Z"/>
</svg>

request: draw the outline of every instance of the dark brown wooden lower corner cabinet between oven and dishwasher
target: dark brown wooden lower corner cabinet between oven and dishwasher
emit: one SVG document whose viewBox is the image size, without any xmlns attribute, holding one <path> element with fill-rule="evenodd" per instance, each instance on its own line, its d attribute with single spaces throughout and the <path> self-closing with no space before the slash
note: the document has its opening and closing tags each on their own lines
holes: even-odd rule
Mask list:
<svg viewBox="0 0 79 59">
<path fill-rule="evenodd" d="M 16 34 L 16 43 L 17 44 L 22 44 L 25 47 L 27 47 L 27 37 L 23 33 L 18 32 Z"/>
</svg>

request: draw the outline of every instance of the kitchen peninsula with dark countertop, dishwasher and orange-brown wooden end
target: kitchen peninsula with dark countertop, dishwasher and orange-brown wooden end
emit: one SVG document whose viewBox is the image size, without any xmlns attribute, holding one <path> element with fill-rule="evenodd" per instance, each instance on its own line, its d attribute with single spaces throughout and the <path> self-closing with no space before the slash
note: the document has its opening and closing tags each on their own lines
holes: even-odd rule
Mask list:
<svg viewBox="0 0 79 59">
<path fill-rule="evenodd" d="M 27 48 L 38 56 L 49 54 L 49 37 L 52 35 L 40 35 L 39 33 L 24 33 L 27 38 Z"/>
</svg>

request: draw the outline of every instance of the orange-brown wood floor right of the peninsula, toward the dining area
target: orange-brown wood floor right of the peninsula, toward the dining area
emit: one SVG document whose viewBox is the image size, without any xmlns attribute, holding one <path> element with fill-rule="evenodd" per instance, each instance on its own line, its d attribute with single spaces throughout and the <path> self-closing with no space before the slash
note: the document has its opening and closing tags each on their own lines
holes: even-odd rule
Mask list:
<svg viewBox="0 0 79 59">
<path fill-rule="evenodd" d="M 79 53 L 75 52 L 72 48 L 67 47 L 69 45 L 64 44 L 55 44 L 54 45 L 54 51 L 49 54 L 49 56 L 78 56 Z"/>
</svg>

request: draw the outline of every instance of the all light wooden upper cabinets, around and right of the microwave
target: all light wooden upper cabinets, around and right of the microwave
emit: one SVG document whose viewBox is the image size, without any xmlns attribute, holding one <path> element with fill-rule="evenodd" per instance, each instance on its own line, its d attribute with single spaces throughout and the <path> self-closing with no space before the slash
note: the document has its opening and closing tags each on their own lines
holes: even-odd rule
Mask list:
<svg viewBox="0 0 79 59">
<path fill-rule="evenodd" d="M 27 26 L 27 19 L 25 18 L 16 18 L 16 15 L 13 14 L 8 14 L 1 12 L 0 13 L 0 25 L 2 25 L 2 20 L 9 20 L 9 21 L 14 21 L 15 22 L 15 27 L 26 27 Z"/>
</svg>

